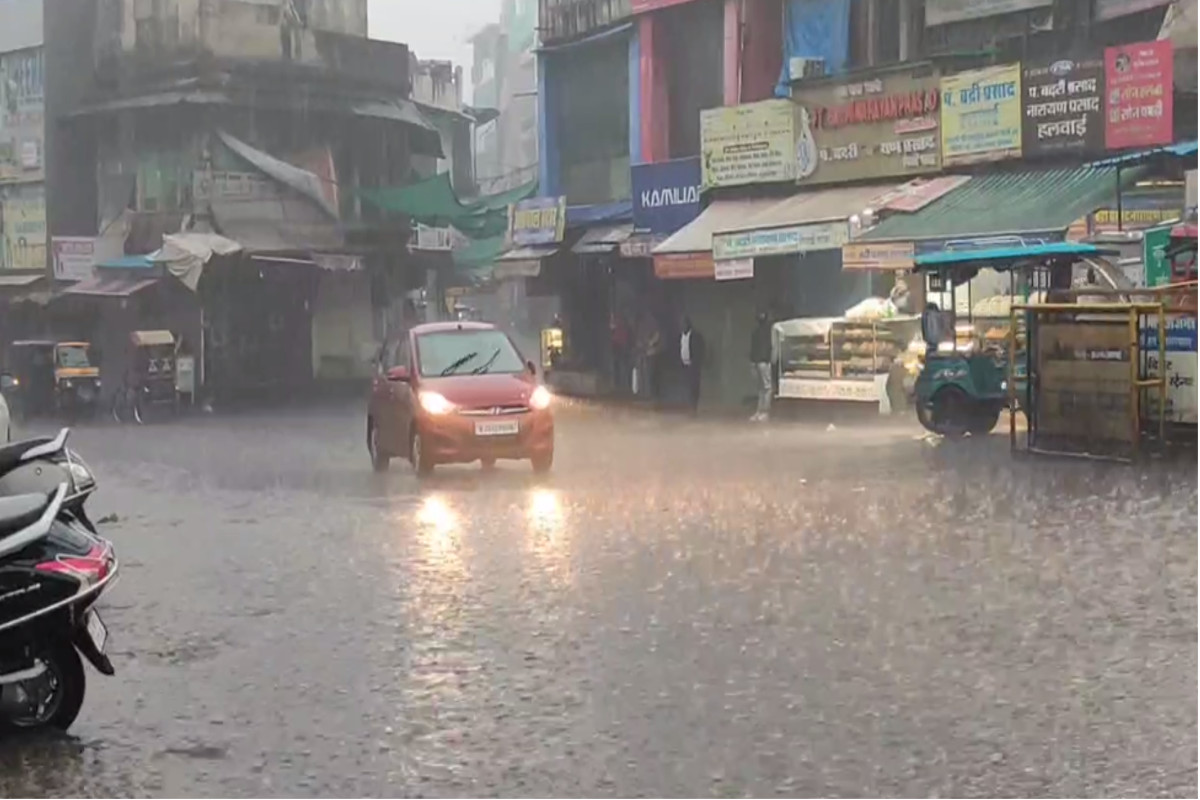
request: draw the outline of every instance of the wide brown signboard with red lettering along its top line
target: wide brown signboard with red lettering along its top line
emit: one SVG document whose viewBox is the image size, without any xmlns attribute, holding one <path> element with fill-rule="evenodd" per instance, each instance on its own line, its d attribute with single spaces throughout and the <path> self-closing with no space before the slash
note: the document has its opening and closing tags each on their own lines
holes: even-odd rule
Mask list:
<svg viewBox="0 0 1200 800">
<path fill-rule="evenodd" d="M 793 90 L 797 182 L 917 175 L 941 167 L 937 76 L 889 73 Z"/>
</svg>

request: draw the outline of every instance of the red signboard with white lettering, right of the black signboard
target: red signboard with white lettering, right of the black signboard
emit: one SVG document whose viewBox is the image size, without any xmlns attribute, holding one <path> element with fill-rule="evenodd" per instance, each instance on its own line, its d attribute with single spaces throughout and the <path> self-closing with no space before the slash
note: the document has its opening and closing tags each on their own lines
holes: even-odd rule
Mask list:
<svg viewBox="0 0 1200 800">
<path fill-rule="evenodd" d="M 1138 42 L 1104 50 L 1104 146 L 1170 144 L 1175 84 L 1171 43 Z"/>
</svg>

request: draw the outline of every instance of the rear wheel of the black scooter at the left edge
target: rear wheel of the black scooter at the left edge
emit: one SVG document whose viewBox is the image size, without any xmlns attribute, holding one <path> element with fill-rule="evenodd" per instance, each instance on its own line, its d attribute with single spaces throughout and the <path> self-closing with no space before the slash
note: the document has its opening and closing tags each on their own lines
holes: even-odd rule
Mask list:
<svg viewBox="0 0 1200 800">
<path fill-rule="evenodd" d="M 42 672 L 0 686 L 0 730 L 58 728 L 66 730 L 79 716 L 86 678 L 71 642 L 42 645 L 34 655 Z"/>
</svg>

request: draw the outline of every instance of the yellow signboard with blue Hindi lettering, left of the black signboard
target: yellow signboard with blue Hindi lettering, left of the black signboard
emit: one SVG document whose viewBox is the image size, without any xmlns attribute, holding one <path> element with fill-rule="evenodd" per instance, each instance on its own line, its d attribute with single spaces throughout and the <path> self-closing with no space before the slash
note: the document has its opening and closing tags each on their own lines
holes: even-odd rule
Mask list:
<svg viewBox="0 0 1200 800">
<path fill-rule="evenodd" d="M 1021 156 L 1021 65 L 942 78 L 942 164 Z"/>
</svg>

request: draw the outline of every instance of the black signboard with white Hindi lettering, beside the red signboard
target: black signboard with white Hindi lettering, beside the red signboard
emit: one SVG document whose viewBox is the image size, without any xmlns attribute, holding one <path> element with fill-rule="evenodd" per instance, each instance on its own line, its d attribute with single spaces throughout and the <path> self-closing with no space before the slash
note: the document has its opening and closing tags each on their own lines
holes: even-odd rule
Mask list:
<svg viewBox="0 0 1200 800">
<path fill-rule="evenodd" d="M 1103 59 L 1027 64 L 1021 88 L 1026 157 L 1103 152 Z"/>
</svg>

